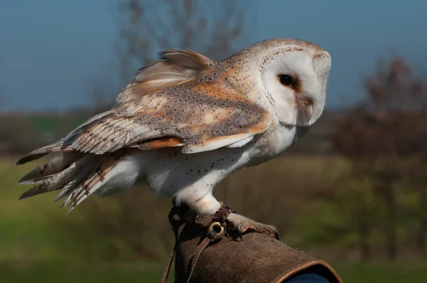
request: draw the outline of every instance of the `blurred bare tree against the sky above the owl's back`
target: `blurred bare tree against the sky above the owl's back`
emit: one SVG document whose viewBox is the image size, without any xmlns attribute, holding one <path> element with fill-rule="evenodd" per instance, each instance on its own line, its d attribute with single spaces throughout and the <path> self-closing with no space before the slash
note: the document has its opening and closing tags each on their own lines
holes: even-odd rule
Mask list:
<svg viewBox="0 0 427 283">
<path fill-rule="evenodd" d="M 111 78 L 95 84 L 97 105 L 110 106 L 117 90 L 159 50 L 191 49 L 214 60 L 231 55 L 250 35 L 254 18 L 248 16 L 248 6 L 252 1 L 120 1 L 115 11 L 117 61 L 109 68 Z"/>
</svg>

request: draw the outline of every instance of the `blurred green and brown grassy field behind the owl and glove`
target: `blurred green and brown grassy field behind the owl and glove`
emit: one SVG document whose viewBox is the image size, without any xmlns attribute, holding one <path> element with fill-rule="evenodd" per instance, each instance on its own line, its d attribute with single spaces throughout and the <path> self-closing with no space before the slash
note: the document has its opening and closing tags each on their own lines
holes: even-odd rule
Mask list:
<svg viewBox="0 0 427 283">
<path fill-rule="evenodd" d="M 14 161 L 0 161 L 2 282 L 159 281 L 173 245 L 169 199 L 156 198 L 137 185 L 117 196 L 93 196 L 65 215 L 60 203 L 53 203 L 56 193 L 17 200 L 25 187 L 16 182 L 35 164 L 14 166 Z M 342 187 L 350 170 L 349 163 L 336 156 L 283 156 L 236 172 L 215 193 L 239 213 L 277 225 L 283 241 L 330 262 L 344 282 L 422 281 L 427 264 L 417 260 L 411 245 L 411 213 L 399 220 L 401 257 L 388 263 L 380 225 L 384 211 L 375 205 L 373 260 L 360 261 L 353 213 L 360 191 L 353 187 L 369 188 L 370 183 L 349 182 L 342 190 L 334 189 Z M 372 192 L 362 192 L 374 205 Z M 401 199 L 403 211 L 414 202 L 411 193 Z"/>
</svg>

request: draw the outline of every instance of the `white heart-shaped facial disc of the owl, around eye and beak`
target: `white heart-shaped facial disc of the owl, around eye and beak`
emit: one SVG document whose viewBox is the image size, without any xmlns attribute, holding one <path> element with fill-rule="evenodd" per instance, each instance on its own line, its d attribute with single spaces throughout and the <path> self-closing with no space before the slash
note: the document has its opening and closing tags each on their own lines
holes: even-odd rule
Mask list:
<svg viewBox="0 0 427 283">
<path fill-rule="evenodd" d="M 274 55 L 260 68 L 260 84 L 281 123 L 305 126 L 317 121 L 325 107 L 330 62 L 327 53 L 313 59 L 311 53 L 293 50 Z M 291 75 L 295 78 L 300 86 L 299 92 L 282 85 L 279 75 Z M 305 117 L 305 113 L 297 107 L 297 97 L 312 100 L 312 113 L 308 119 L 301 119 Z"/>
</svg>

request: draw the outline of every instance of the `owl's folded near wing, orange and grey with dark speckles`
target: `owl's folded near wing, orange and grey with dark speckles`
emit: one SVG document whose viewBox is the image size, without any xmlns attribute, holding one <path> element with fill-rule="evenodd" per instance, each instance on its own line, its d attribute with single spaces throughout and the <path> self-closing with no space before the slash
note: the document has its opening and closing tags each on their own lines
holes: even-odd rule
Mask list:
<svg viewBox="0 0 427 283">
<path fill-rule="evenodd" d="M 143 77 L 125 88 L 111 110 L 89 119 L 56 144 L 24 156 L 18 164 L 53 151 L 104 154 L 171 146 L 182 146 L 186 154 L 210 151 L 243 146 L 270 127 L 270 114 L 236 91 L 218 66 L 205 67 L 168 87 L 157 85 L 159 77 L 154 76 L 154 82 Z"/>
</svg>

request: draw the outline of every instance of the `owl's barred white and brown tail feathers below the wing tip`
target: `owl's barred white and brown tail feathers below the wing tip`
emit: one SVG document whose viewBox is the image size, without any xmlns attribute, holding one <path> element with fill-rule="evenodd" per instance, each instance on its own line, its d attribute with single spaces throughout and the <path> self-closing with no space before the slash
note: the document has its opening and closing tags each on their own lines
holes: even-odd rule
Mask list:
<svg viewBox="0 0 427 283">
<path fill-rule="evenodd" d="M 137 159 L 126 150 L 100 155 L 60 152 L 21 178 L 19 184 L 36 186 L 19 199 L 60 190 L 56 201 L 68 196 L 60 206 L 67 207 L 69 213 L 95 191 L 106 196 L 129 189 L 139 174 L 138 165 Z"/>
</svg>

